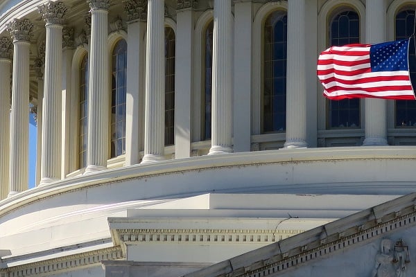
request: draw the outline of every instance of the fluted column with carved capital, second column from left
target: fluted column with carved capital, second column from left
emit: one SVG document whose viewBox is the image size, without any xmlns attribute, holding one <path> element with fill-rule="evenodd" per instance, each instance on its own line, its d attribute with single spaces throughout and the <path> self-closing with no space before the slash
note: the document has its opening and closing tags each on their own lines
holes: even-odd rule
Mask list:
<svg viewBox="0 0 416 277">
<path fill-rule="evenodd" d="M 29 59 L 33 24 L 28 19 L 13 19 L 8 24 L 8 30 L 13 37 L 14 52 L 10 114 L 10 197 L 28 188 Z"/>
</svg>

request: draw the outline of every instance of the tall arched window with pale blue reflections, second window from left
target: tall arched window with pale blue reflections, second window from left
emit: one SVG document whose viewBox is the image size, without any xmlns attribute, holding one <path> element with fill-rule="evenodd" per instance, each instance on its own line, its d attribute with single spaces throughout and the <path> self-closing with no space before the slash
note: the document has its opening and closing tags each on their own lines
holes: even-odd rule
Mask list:
<svg viewBox="0 0 416 277">
<path fill-rule="evenodd" d="M 127 80 L 127 43 L 120 39 L 112 51 L 111 82 L 111 157 L 125 153 L 125 88 Z"/>
</svg>

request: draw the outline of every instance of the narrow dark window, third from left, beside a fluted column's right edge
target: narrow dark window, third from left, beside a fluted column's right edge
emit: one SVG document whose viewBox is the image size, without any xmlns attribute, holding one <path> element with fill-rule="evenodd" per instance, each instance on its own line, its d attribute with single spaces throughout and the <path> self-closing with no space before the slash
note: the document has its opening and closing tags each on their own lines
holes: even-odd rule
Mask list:
<svg viewBox="0 0 416 277">
<path fill-rule="evenodd" d="M 165 145 L 175 143 L 175 32 L 165 28 Z"/>
</svg>

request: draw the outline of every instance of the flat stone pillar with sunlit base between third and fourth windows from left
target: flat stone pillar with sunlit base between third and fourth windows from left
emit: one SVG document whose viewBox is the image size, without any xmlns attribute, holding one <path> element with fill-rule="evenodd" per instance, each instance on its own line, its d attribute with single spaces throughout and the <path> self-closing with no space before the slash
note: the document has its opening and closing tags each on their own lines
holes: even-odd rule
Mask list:
<svg viewBox="0 0 416 277">
<path fill-rule="evenodd" d="M 175 159 L 191 156 L 193 27 L 197 1 L 177 1 L 175 60 Z"/>
</svg>

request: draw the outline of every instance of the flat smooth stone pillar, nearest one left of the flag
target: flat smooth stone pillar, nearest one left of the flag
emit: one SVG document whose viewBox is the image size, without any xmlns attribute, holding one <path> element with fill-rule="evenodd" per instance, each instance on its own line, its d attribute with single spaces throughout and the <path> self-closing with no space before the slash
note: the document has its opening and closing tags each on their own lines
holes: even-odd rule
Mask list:
<svg viewBox="0 0 416 277">
<path fill-rule="evenodd" d="M 252 1 L 234 1 L 234 42 L 252 41 Z M 234 43 L 234 152 L 251 148 L 252 44 Z"/>
</svg>

